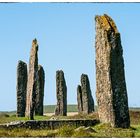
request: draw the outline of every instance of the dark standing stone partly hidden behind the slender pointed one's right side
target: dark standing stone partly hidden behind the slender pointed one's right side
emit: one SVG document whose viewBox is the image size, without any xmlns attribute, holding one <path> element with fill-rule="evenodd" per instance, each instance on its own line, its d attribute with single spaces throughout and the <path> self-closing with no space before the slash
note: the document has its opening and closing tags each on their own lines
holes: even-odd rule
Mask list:
<svg viewBox="0 0 140 140">
<path fill-rule="evenodd" d="M 35 105 L 35 115 L 39 116 L 43 116 L 44 84 L 45 84 L 45 72 L 43 67 L 39 65 L 36 105 Z"/>
</svg>

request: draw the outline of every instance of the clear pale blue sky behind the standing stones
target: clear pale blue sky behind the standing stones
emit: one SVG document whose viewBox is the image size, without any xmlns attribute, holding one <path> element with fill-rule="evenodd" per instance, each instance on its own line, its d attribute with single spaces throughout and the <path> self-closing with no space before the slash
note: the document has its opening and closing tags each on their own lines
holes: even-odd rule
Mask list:
<svg viewBox="0 0 140 140">
<path fill-rule="evenodd" d="M 62 69 L 68 104 L 77 103 L 77 85 L 88 74 L 95 96 L 95 15 L 115 21 L 123 46 L 129 106 L 140 107 L 140 3 L 0 4 L 0 110 L 16 109 L 16 67 L 29 62 L 37 38 L 45 70 L 44 104 L 56 104 L 56 71 Z"/>
</svg>

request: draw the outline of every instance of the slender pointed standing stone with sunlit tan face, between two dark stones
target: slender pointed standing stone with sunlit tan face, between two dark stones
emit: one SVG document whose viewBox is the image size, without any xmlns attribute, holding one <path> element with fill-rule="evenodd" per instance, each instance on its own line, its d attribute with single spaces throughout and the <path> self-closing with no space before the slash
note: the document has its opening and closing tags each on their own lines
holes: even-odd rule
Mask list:
<svg viewBox="0 0 140 140">
<path fill-rule="evenodd" d="M 29 73 L 27 82 L 26 117 L 34 119 L 38 80 L 38 44 L 34 39 L 29 60 Z"/>
</svg>

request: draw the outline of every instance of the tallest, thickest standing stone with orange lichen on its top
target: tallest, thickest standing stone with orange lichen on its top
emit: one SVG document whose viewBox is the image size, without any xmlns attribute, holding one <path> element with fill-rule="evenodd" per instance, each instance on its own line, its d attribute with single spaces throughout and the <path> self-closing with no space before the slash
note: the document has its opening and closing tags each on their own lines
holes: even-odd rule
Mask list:
<svg viewBox="0 0 140 140">
<path fill-rule="evenodd" d="M 96 97 L 101 122 L 130 126 L 120 33 L 107 15 L 96 16 Z"/>
</svg>

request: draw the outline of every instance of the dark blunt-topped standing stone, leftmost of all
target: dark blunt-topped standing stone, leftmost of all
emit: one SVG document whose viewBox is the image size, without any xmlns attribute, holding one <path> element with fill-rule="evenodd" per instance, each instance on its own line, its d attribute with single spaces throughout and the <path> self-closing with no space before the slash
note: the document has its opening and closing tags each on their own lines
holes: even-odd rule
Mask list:
<svg viewBox="0 0 140 140">
<path fill-rule="evenodd" d="M 17 66 L 17 117 L 25 116 L 27 88 L 27 64 L 18 61 Z"/>
</svg>

